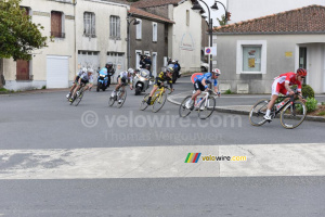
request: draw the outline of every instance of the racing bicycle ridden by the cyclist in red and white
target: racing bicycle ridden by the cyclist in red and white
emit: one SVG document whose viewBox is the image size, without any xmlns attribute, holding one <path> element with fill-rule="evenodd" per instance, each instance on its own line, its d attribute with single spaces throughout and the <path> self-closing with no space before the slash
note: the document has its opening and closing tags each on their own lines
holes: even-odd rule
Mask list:
<svg viewBox="0 0 325 217">
<path fill-rule="evenodd" d="M 273 105 L 270 116 L 274 119 L 280 113 L 280 120 L 284 128 L 294 129 L 298 127 L 306 118 L 307 108 L 303 102 L 297 100 L 297 97 L 300 95 L 298 92 L 295 92 L 294 95 L 290 97 L 278 97 L 278 99 L 287 99 L 285 103 L 276 110 L 276 106 Z M 300 95 L 303 98 L 302 95 Z M 303 98 L 304 99 L 304 98 Z M 260 100 L 252 107 L 249 113 L 249 122 L 253 126 L 261 126 L 265 124 L 264 115 L 266 114 L 268 104 L 271 100 Z"/>
</svg>

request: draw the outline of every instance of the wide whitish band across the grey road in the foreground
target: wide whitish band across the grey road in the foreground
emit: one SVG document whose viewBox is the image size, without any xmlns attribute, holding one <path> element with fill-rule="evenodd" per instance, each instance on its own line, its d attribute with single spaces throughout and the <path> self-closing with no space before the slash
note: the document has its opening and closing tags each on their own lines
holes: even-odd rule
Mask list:
<svg viewBox="0 0 325 217">
<path fill-rule="evenodd" d="M 198 163 L 184 163 L 202 153 Z M 203 162 L 203 156 L 246 162 Z M 325 143 L 0 150 L 0 179 L 325 176 Z"/>
</svg>

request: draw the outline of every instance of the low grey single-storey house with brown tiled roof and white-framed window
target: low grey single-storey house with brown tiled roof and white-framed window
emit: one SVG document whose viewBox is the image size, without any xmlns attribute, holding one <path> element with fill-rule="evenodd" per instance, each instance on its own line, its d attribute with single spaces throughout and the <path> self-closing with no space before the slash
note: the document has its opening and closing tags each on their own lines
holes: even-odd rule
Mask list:
<svg viewBox="0 0 325 217">
<path fill-rule="evenodd" d="M 324 17 L 325 7 L 309 5 L 214 28 L 220 82 L 270 93 L 274 77 L 304 67 L 306 82 L 325 92 Z"/>
</svg>

